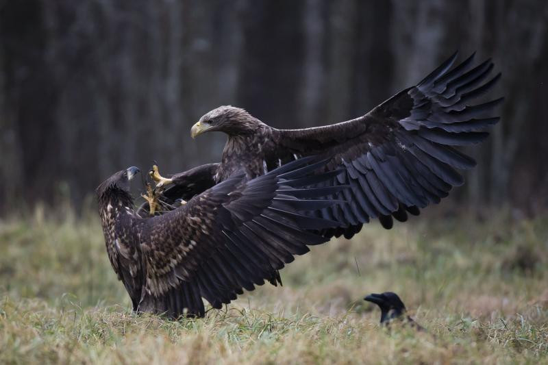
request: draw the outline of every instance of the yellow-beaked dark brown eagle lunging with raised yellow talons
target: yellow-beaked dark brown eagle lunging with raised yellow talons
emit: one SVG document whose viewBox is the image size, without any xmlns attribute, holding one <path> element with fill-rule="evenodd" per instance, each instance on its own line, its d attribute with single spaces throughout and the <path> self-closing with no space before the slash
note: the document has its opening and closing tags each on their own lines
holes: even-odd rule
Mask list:
<svg viewBox="0 0 548 365">
<path fill-rule="evenodd" d="M 345 173 L 321 185 L 349 184 L 351 189 L 332 197 L 344 197 L 349 203 L 318 213 L 341 226 L 324 231 L 324 236 L 350 238 L 375 217 L 386 228 L 392 227 L 392 216 L 406 221 L 407 212 L 419 214 L 419 208 L 438 203 L 453 186 L 463 184 L 456 168 L 475 166 L 472 158 L 453 146 L 481 142 L 488 136 L 484 130 L 499 121 L 493 109 L 502 98 L 471 105 L 500 78 L 499 73 L 488 79 L 493 70 L 490 60 L 472 68 L 473 56 L 451 69 L 455 53 L 416 86 L 364 116 L 334 125 L 276 129 L 243 109 L 216 108 L 191 129 L 192 138 L 209 131 L 228 135 L 221 164 L 208 170 L 212 175 L 206 181 L 224 181 L 240 169 L 253 178 L 301 156 L 326 155 L 330 160 L 324 171 L 343 168 Z M 204 173 L 197 168 L 184 174 L 197 171 Z M 180 179 L 158 176 L 157 181 L 184 189 Z"/>
</svg>

